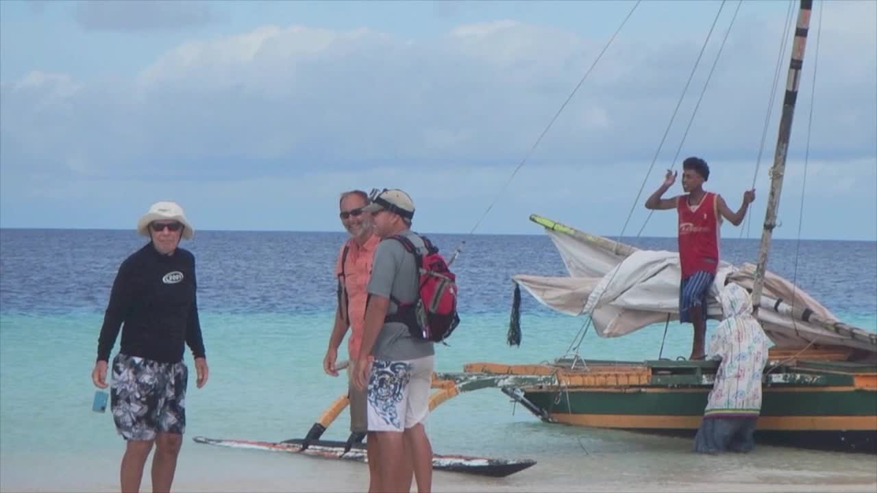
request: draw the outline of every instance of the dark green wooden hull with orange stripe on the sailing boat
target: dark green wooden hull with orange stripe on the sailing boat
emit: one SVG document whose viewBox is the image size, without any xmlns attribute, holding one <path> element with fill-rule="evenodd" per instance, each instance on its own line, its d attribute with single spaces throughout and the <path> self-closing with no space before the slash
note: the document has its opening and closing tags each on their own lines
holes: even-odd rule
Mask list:
<svg viewBox="0 0 877 493">
<path fill-rule="evenodd" d="M 845 376 L 828 375 L 833 384 L 766 387 L 755 438 L 773 445 L 877 454 L 877 389 L 855 388 L 852 375 Z M 667 383 L 522 390 L 528 409 L 547 422 L 690 437 L 701 423 L 710 389 Z"/>
</svg>

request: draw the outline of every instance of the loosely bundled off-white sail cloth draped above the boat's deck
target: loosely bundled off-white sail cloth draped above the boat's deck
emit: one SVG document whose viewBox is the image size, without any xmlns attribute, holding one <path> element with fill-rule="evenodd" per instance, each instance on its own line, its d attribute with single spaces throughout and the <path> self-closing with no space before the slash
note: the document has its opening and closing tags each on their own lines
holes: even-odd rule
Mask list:
<svg viewBox="0 0 877 493">
<path fill-rule="evenodd" d="M 679 319 L 679 254 L 667 251 L 634 250 L 614 254 L 588 241 L 585 234 L 574 236 L 546 229 L 567 267 L 569 276 L 515 275 L 539 303 L 553 310 L 578 316 L 591 313 L 597 334 L 618 337 L 670 319 Z M 752 289 L 754 266 L 735 268 L 721 262 L 716 280 L 709 289 L 707 313 L 720 318 L 717 295 L 726 279 Z M 806 306 L 820 318 L 837 321 L 831 311 L 779 275 L 765 276 L 764 296 L 781 298 L 787 304 Z M 768 301 L 762 299 L 762 305 Z M 843 346 L 874 351 L 873 339 L 850 338 L 788 317 L 777 311 L 759 310 L 759 322 L 778 347 Z"/>
</svg>

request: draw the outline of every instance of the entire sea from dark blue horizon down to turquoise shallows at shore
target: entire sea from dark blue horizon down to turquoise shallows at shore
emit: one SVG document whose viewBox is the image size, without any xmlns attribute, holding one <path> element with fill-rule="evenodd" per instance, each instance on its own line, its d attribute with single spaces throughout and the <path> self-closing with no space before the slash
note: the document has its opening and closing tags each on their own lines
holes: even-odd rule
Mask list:
<svg viewBox="0 0 877 493">
<path fill-rule="evenodd" d="M 343 378 L 324 375 L 321 368 L 332 323 L 333 284 L 326 274 L 343 238 L 331 233 L 207 232 L 190 244 L 198 259 L 210 382 L 203 389 L 190 382 L 189 437 L 301 438 L 324 407 L 345 391 Z M 454 237 L 437 238 L 443 250 L 457 244 Z M 100 247 L 79 247 L 83 239 Z M 89 374 L 115 269 L 141 241 L 129 232 L 0 234 L 0 489 L 114 488 L 122 440 L 109 413 L 91 411 L 95 389 Z M 656 247 L 667 244 L 653 241 Z M 799 264 L 808 265 L 799 275 L 802 286 L 848 323 L 877 331 L 877 244 L 802 245 Z M 779 249 L 788 253 L 793 247 L 794 243 L 781 244 Z M 752 245 L 724 248 L 745 255 Z M 502 249 L 506 254 L 496 254 Z M 781 274 L 792 276 L 794 262 L 788 257 L 777 255 L 776 263 L 788 269 L 779 269 Z M 460 370 L 467 361 L 549 361 L 567 351 L 582 318 L 548 311 L 525 293 L 523 343 L 505 343 L 511 300 L 508 275 L 562 272 L 560 259 L 544 237 L 474 237 L 456 265 L 464 293 L 463 322 L 451 346 L 438 347 L 440 371 Z M 600 339 L 589 332 L 581 355 L 654 359 L 662 335 L 662 325 L 620 339 Z M 690 337 L 688 326 L 671 324 L 664 357 L 688 354 Z M 191 361 L 188 352 L 186 361 Z M 346 424 L 343 413 L 325 438 L 345 439 Z M 512 476 L 515 481 L 473 479 L 460 483 L 462 490 L 532 490 L 539 485 L 581 490 L 574 485 L 581 486 L 586 478 L 588 484 L 605 485 L 619 477 L 631 484 L 673 485 L 681 478 L 700 477 L 704 468 L 717 481 L 731 471 L 748 469 L 751 477 L 782 483 L 797 482 L 795 478 L 807 474 L 817 475 L 816 483 L 829 481 L 838 471 L 855 484 L 877 482 L 873 457 L 760 447 L 749 456 L 709 461 L 688 454 L 687 440 L 543 424 L 497 389 L 479 390 L 439 406 L 427 429 L 439 453 L 539 461 L 537 467 Z M 619 472 L 619 463 L 628 467 Z M 313 475 L 311 468 L 317 464 L 334 471 L 324 490 L 333 490 L 332 485 L 346 490 L 362 478 L 361 469 L 353 466 L 268 458 L 190 442 L 180 474 L 185 481 L 192 471 L 212 470 L 210 477 L 232 482 L 243 478 L 252 485 L 256 476 L 268 481 L 265 478 L 281 474 L 278 468 L 289 467 L 311 479 L 303 480 L 301 488 L 286 490 L 314 490 L 325 479 Z"/>
</svg>

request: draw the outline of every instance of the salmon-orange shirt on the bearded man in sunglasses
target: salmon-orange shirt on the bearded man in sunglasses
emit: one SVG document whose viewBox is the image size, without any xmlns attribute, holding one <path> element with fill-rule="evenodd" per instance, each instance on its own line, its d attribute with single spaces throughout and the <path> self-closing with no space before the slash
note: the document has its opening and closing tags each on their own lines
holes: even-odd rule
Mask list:
<svg viewBox="0 0 877 493">
<path fill-rule="evenodd" d="M 377 235 L 372 235 L 367 239 L 366 243 L 360 247 L 355 239 L 348 239 L 341 246 L 338 253 L 338 261 L 335 262 L 335 276 L 341 275 L 341 257 L 344 254 L 344 248 L 349 247 L 347 258 L 344 265 L 344 293 L 341 296 L 341 316 L 344 317 L 344 309 L 347 309 L 347 316 L 350 320 L 350 338 L 347 339 L 347 350 L 350 352 L 350 358 L 356 359 L 360 354 L 360 346 L 362 345 L 362 334 L 365 331 L 366 324 L 366 303 L 368 300 L 368 276 L 372 273 L 372 259 L 374 258 L 374 250 L 378 247 L 381 239 Z M 346 305 L 345 305 L 346 304 Z"/>
</svg>

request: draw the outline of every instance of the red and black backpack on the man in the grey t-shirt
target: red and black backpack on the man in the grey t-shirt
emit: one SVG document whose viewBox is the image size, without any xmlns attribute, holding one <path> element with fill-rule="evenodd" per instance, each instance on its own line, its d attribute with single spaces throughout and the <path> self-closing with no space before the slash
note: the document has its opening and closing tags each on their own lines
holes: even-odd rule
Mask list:
<svg viewBox="0 0 877 493">
<path fill-rule="evenodd" d="M 425 236 L 419 238 L 424 240 L 425 255 L 419 254 L 417 247 L 403 235 L 386 238 L 396 239 L 403 244 L 405 250 L 414 255 L 419 276 L 419 296 L 409 304 L 403 304 L 390 296 L 396 304 L 396 313 L 388 315 L 384 321 L 402 322 L 416 339 L 443 342 L 460 324 L 460 317 L 457 315 L 456 276 L 447 268 L 444 257 L 439 254 L 439 248 L 434 247 Z"/>
</svg>

